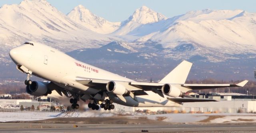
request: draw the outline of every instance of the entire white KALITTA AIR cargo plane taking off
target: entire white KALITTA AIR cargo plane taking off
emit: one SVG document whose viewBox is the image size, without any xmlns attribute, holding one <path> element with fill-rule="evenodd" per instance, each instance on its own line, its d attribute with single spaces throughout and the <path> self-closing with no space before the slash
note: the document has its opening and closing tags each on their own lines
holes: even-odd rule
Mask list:
<svg viewBox="0 0 256 133">
<path fill-rule="evenodd" d="M 12 49 L 9 54 L 17 69 L 27 74 L 28 94 L 47 96 L 56 90 L 60 96 L 70 98 L 73 109 L 79 108 L 79 100 L 90 100 L 88 107 L 92 110 L 114 109 L 113 102 L 133 107 L 180 107 L 184 102 L 216 101 L 191 98 L 186 95 L 190 90 L 244 86 L 248 82 L 186 84 L 192 66 L 188 61 L 182 61 L 158 83 L 136 82 L 32 41 Z M 31 75 L 50 82 L 31 81 Z"/>
</svg>

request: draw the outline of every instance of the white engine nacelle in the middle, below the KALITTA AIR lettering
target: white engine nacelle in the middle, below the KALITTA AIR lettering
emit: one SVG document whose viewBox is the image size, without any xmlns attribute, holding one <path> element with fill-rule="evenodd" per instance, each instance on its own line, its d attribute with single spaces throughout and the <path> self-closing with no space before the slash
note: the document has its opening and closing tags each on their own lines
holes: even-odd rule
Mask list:
<svg viewBox="0 0 256 133">
<path fill-rule="evenodd" d="M 114 94 L 117 94 L 117 95 L 123 95 L 128 92 L 122 84 L 114 81 L 108 82 L 106 88 L 108 92 L 113 92 Z"/>
</svg>

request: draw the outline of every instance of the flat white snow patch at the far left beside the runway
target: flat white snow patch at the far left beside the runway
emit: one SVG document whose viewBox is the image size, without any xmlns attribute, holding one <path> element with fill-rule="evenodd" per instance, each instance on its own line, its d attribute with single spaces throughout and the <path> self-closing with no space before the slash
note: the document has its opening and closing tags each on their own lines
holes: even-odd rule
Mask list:
<svg viewBox="0 0 256 133">
<path fill-rule="evenodd" d="M 56 117 L 60 112 L 1 112 L 0 121 L 34 121 Z"/>
</svg>

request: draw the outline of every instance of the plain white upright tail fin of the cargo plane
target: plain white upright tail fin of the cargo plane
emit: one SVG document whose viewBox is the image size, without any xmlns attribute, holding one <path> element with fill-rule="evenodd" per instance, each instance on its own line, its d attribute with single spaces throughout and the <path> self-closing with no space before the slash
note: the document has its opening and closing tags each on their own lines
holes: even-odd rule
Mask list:
<svg viewBox="0 0 256 133">
<path fill-rule="evenodd" d="M 176 68 L 174 68 L 168 75 L 166 75 L 159 83 L 172 83 L 172 84 L 184 84 L 192 63 L 188 61 L 182 61 Z"/>
</svg>

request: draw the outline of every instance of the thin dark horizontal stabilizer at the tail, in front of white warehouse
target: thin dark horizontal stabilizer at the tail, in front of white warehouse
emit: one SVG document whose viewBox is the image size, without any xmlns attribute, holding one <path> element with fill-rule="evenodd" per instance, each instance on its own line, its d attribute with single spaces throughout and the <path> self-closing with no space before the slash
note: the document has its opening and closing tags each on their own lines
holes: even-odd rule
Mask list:
<svg viewBox="0 0 256 133">
<path fill-rule="evenodd" d="M 214 99 L 201 99 L 201 98 L 167 98 L 172 102 L 218 102 L 218 100 Z"/>
</svg>

